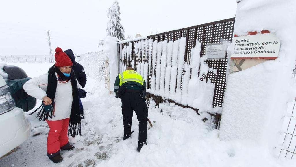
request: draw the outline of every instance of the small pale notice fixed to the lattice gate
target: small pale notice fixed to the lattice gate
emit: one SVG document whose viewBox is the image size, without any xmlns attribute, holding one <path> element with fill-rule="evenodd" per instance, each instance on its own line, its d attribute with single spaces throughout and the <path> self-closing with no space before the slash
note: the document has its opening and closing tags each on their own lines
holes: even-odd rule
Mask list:
<svg viewBox="0 0 296 167">
<path fill-rule="evenodd" d="M 205 56 L 208 59 L 225 59 L 226 45 L 225 44 L 207 44 Z"/>
</svg>

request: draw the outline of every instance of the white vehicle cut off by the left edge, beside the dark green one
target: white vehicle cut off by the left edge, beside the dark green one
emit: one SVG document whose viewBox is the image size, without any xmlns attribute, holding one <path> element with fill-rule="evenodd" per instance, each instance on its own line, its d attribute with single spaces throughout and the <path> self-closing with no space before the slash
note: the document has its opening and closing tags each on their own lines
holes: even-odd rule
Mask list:
<svg viewBox="0 0 296 167">
<path fill-rule="evenodd" d="M 22 86 L 22 85 L 21 85 Z M 30 136 L 31 124 L 22 108 L 15 106 L 11 89 L 0 75 L 0 158 Z"/>
</svg>

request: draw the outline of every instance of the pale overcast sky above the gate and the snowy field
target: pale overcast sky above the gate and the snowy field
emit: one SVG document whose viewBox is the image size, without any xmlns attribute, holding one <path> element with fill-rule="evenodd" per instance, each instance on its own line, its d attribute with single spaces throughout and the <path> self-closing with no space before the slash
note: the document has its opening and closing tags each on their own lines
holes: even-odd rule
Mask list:
<svg viewBox="0 0 296 167">
<path fill-rule="evenodd" d="M 147 36 L 235 17 L 236 0 L 118 0 L 126 37 Z M 0 2 L 0 55 L 48 55 L 59 46 L 75 54 L 98 51 L 113 0 Z"/>
</svg>

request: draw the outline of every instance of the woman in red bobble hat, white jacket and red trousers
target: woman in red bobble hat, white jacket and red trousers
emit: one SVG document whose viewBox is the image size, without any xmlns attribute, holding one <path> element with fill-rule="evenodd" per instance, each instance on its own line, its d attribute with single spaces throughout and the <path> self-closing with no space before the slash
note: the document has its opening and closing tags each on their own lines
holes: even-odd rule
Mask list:
<svg viewBox="0 0 296 167">
<path fill-rule="evenodd" d="M 39 111 L 36 117 L 40 121 L 46 120 L 49 126 L 47 155 L 54 163 L 59 163 L 63 160 L 60 150 L 74 149 L 69 144 L 68 133 L 73 137 L 81 135 L 78 89 L 82 87 L 71 70 L 70 58 L 59 47 L 55 51 L 55 65 L 48 73 L 27 81 L 23 88 L 30 96 L 43 100 L 33 113 Z M 47 111 L 50 105 L 53 110 Z"/>
</svg>

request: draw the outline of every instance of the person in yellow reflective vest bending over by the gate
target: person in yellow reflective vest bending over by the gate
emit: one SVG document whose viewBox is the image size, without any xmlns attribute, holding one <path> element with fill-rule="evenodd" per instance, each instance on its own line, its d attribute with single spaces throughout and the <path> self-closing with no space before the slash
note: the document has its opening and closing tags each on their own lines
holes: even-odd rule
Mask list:
<svg viewBox="0 0 296 167">
<path fill-rule="evenodd" d="M 144 90 L 144 91 L 143 91 Z M 115 80 L 114 92 L 121 99 L 121 111 L 123 115 L 123 140 L 131 137 L 131 121 L 133 111 L 136 112 L 139 121 L 139 141 L 137 151 L 146 143 L 148 107 L 145 101 L 146 82 L 143 77 L 135 72 L 132 67 L 127 67 Z"/>
</svg>

